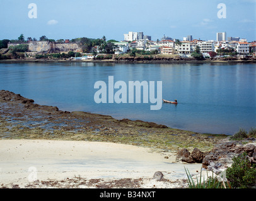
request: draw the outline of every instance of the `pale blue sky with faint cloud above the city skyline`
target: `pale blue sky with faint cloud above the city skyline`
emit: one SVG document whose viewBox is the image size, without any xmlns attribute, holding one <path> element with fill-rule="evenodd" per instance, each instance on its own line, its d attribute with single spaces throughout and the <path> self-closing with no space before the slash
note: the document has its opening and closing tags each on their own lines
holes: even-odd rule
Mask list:
<svg viewBox="0 0 256 201">
<path fill-rule="evenodd" d="M 37 4 L 37 19 L 28 4 Z M 219 3 L 226 18 L 219 19 Z M 27 37 L 78 37 L 124 40 L 128 31 L 143 31 L 152 40 L 163 35 L 216 40 L 216 32 L 256 40 L 256 0 L 1 0 L 0 40 Z"/>
</svg>

